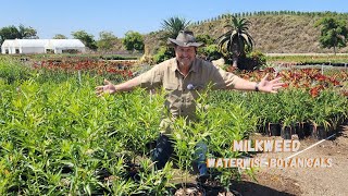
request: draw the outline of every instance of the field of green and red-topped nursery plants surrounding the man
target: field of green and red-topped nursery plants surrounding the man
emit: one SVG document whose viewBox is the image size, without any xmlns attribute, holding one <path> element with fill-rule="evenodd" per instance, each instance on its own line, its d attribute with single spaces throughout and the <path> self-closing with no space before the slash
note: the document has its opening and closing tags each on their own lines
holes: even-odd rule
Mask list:
<svg viewBox="0 0 348 196">
<path fill-rule="evenodd" d="M 156 171 L 150 151 L 166 113 L 164 91 L 95 94 L 103 78 L 117 83 L 141 72 L 130 61 L 0 57 L 0 195 L 171 195 L 192 186 L 200 142 L 210 158 L 240 158 L 251 155 L 232 151 L 233 140 L 260 134 L 309 145 L 337 134 L 348 117 L 346 70 L 236 72 L 251 81 L 282 76 L 286 85 L 276 95 L 201 91 L 199 121 L 173 122 L 176 156 Z M 243 171 L 211 169 L 214 184 L 202 192 L 231 193 L 245 175 L 259 176 Z"/>
</svg>

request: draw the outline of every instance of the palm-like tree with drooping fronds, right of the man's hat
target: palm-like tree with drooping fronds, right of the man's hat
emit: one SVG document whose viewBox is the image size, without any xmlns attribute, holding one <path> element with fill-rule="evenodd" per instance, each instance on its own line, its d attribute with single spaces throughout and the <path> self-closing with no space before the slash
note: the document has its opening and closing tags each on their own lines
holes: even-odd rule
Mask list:
<svg viewBox="0 0 348 196">
<path fill-rule="evenodd" d="M 249 25 L 250 22 L 248 20 L 237 20 L 235 16 L 232 16 L 227 19 L 224 34 L 216 39 L 217 50 L 226 60 L 233 60 L 234 68 L 237 68 L 238 58 L 245 57 L 253 48 L 254 41 L 247 32 Z"/>
</svg>

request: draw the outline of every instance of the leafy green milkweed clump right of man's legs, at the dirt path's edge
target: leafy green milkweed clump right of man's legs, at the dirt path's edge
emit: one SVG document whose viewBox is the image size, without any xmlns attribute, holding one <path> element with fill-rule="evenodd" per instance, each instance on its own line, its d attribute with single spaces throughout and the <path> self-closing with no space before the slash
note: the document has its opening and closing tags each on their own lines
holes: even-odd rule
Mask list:
<svg viewBox="0 0 348 196">
<path fill-rule="evenodd" d="M 256 127 L 258 118 L 253 117 L 253 113 L 249 113 L 250 111 L 246 111 L 240 105 L 229 102 L 224 107 L 225 110 L 221 112 L 216 112 L 217 110 L 214 109 L 214 120 L 212 118 L 211 121 L 214 124 L 214 128 L 212 130 L 208 149 L 211 150 L 211 157 L 217 155 L 217 157 L 223 158 L 237 158 L 243 152 L 232 150 L 233 140 L 248 138 L 250 131 Z M 217 120 L 215 113 L 219 113 Z M 220 188 L 220 193 L 227 195 L 232 193 L 232 180 L 238 180 L 239 177 L 237 168 L 215 168 L 212 169 L 211 173 L 213 172 L 219 173 L 212 176 L 212 182 L 215 182 L 213 188 L 215 191 Z"/>
</svg>

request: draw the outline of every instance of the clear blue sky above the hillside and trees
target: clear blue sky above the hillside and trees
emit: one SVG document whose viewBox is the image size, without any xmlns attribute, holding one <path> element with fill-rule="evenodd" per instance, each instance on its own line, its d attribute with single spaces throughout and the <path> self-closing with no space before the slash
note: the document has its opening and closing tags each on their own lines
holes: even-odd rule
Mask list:
<svg viewBox="0 0 348 196">
<path fill-rule="evenodd" d="M 348 13 L 348 0 L 13 0 L 1 3 L 0 27 L 32 26 L 40 38 L 86 30 L 96 39 L 102 30 L 124 37 L 127 30 L 147 34 L 172 16 L 196 22 L 223 13 L 253 11 L 336 11 Z"/>
</svg>

